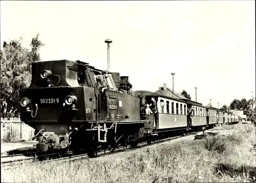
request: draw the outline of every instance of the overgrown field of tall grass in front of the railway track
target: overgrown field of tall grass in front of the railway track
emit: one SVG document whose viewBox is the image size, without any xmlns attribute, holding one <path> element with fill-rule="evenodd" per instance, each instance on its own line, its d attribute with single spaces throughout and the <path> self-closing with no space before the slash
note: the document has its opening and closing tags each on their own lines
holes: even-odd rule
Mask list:
<svg viewBox="0 0 256 183">
<path fill-rule="evenodd" d="M 253 182 L 255 127 L 129 156 L 25 163 L 1 171 L 2 182 Z M 129 152 L 130 153 L 130 152 Z"/>
</svg>

